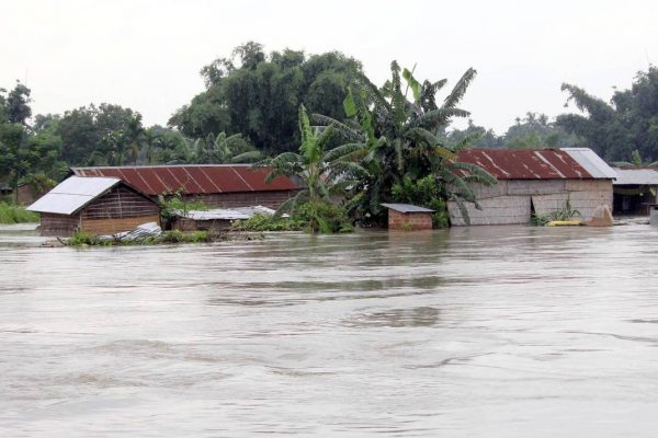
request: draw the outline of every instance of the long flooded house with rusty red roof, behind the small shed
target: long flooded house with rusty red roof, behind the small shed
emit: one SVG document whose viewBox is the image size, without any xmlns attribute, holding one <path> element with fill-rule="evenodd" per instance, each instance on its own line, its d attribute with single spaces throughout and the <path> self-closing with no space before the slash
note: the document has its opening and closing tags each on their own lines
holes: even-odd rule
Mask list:
<svg viewBox="0 0 658 438">
<path fill-rule="evenodd" d="M 81 177 L 120 178 L 157 200 L 158 195 L 180 194 L 186 200 L 202 200 L 209 207 L 265 206 L 279 208 L 298 192 L 287 176 L 265 183 L 266 168 L 251 164 L 183 164 L 121 168 L 71 168 Z"/>
</svg>

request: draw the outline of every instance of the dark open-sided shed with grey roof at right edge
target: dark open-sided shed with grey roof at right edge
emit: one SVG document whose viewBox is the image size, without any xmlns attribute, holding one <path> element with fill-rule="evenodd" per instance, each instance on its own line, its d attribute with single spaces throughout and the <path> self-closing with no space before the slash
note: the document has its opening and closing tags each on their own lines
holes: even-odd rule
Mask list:
<svg viewBox="0 0 658 438">
<path fill-rule="evenodd" d="M 649 216 L 649 206 L 658 203 L 658 171 L 655 169 L 613 168 L 613 214 Z"/>
</svg>

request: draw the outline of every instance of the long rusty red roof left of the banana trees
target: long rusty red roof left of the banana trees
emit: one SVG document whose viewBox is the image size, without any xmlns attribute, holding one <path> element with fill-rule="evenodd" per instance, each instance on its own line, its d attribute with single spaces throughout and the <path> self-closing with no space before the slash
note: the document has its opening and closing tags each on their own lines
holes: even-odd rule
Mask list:
<svg viewBox="0 0 658 438">
<path fill-rule="evenodd" d="M 180 192 L 185 195 L 235 192 L 293 191 L 290 177 L 265 183 L 270 169 L 249 164 L 183 164 L 121 168 L 71 168 L 76 176 L 111 176 L 123 180 L 145 195 Z"/>
</svg>

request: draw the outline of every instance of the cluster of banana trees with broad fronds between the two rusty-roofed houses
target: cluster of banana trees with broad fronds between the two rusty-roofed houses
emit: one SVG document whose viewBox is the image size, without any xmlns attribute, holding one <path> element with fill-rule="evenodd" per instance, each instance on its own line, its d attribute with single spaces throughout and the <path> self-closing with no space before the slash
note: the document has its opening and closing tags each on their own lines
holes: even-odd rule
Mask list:
<svg viewBox="0 0 658 438">
<path fill-rule="evenodd" d="M 419 181 L 431 175 L 441 198 L 455 200 L 467 219 L 465 201 L 479 208 L 468 183 L 494 184 L 496 180 L 479 166 L 456 160 L 456 152 L 476 136 L 449 145 L 442 135 L 453 117 L 468 116 L 457 105 L 475 78 L 475 70 L 468 69 L 439 106 L 436 93 L 446 80 L 421 83 L 395 61 L 390 69 L 392 79 L 382 89 L 360 77 L 363 90 L 359 94 L 349 91 L 344 101 L 345 123 L 317 116 L 320 123 L 333 124 L 348 141 L 334 150 L 341 160 L 358 160 L 358 169 L 365 170 L 365 176 L 354 175 L 359 183 L 352 186 L 353 214 L 365 222 L 383 224 L 381 203 L 395 199 L 394 187 L 404 185 L 405 177 Z M 409 92 L 412 100 L 408 99 Z M 426 199 L 422 204 L 431 207 L 432 201 Z"/>
</svg>

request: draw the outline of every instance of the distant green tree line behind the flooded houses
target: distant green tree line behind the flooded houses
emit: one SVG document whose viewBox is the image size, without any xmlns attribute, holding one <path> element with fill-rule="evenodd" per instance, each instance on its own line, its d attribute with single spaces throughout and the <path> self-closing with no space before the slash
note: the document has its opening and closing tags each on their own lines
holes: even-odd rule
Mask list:
<svg viewBox="0 0 658 438">
<path fill-rule="evenodd" d="M 291 49 L 268 54 L 253 42 L 203 67 L 201 76 L 205 90 L 175 111 L 167 126 L 150 127 L 144 126 L 138 112 L 109 103 L 33 116 L 31 90 L 25 84 L 0 89 L 0 184 L 59 181 L 72 165 L 254 162 L 297 150 L 300 105 L 314 123 L 318 123 L 313 116 L 317 114 L 325 122 L 347 123 L 345 96 L 352 93 L 359 101 L 367 95 L 363 104 L 373 117 L 379 117 L 373 126 L 381 127 L 387 126 L 381 97 L 395 94 L 395 80 L 372 84 L 361 62 L 343 54 L 307 55 Z M 430 85 L 443 84 L 420 85 L 429 92 Z M 631 88 L 615 91 L 610 102 L 572 84 L 564 84 L 563 91 L 577 113 L 554 120 L 527 113 L 502 135 L 473 122 L 464 129 L 442 123 L 432 134 L 445 146 L 581 146 L 609 161 L 637 165 L 658 160 L 656 67 L 638 72 Z M 332 136 L 327 147 L 338 145 L 338 136 Z"/>
</svg>

